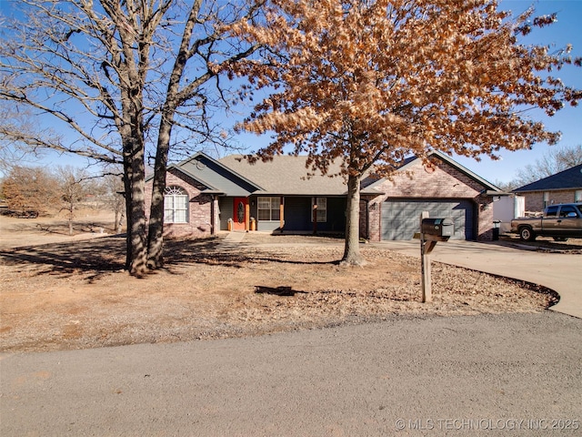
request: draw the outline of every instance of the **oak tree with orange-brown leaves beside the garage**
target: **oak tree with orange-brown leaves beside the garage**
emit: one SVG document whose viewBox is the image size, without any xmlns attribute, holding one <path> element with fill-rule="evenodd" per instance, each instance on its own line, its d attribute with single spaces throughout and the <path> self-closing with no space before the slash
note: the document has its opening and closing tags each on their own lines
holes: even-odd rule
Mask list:
<svg viewBox="0 0 582 437">
<path fill-rule="evenodd" d="M 496 158 L 558 134 L 530 119 L 576 105 L 580 91 L 552 71 L 577 64 L 568 48 L 525 46 L 519 37 L 555 17 L 512 17 L 495 0 L 272 0 L 263 25 L 232 32 L 264 46 L 238 74 L 269 96 L 241 129 L 276 133 L 256 157 L 292 147 L 326 174 L 341 162 L 347 183 L 343 261 L 358 249 L 359 188 L 366 172 L 387 176 L 431 150 Z M 334 176 L 334 175 L 330 175 Z"/>
</svg>

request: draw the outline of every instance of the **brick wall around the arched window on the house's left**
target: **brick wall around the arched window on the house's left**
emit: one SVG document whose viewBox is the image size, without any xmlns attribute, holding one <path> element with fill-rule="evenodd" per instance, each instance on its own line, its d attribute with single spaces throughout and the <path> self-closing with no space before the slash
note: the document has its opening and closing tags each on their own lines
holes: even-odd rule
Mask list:
<svg viewBox="0 0 582 437">
<path fill-rule="evenodd" d="M 213 224 L 210 221 L 212 218 L 213 204 L 215 210 L 214 229 L 218 229 L 218 200 L 213 200 L 213 197 L 210 195 L 201 194 L 201 191 L 206 189 L 205 186 L 176 170 L 172 173 L 168 172 L 166 176 L 166 187 L 171 186 L 180 187 L 188 194 L 188 222 L 165 223 L 165 237 L 206 237 L 211 235 L 213 233 Z M 146 183 L 146 219 L 149 218 L 152 187 L 153 181 Z"/>
</svg>

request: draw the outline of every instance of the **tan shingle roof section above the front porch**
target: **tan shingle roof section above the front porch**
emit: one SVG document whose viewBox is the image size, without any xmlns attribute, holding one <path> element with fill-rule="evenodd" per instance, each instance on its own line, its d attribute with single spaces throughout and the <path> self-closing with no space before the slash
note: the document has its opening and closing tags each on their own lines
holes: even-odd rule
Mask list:
<svg viewBox="0 0 582 437">
<path fill-rule="evenodd" d="M 242 155 L 230 155 L 219 159 L 226 168 L 231 168 L 237 174 L 256 182 L 265 194 L 273 195 L 346 195 L 346 181 L 342 177 L 323 176 L 320 171 L 307 178 L 306 156 L 281 155 L 272 161 L 258 161 L 249 164 Z M 339 165 L 330 166 L 329 175 L 339 172 Z"/>
</svg>

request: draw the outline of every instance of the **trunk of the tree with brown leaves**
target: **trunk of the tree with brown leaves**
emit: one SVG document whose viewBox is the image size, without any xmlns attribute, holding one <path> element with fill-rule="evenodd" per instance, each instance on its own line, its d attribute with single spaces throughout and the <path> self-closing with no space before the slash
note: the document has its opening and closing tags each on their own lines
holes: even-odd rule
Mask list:
<svg viewBox="0 0 582 437">
<path fill-rule="evenodd" d="M 360 178 L 347 179 L 346 245 L 342 265 L 363 266 L 366 259 L 360 255 Z"/>
</svg>

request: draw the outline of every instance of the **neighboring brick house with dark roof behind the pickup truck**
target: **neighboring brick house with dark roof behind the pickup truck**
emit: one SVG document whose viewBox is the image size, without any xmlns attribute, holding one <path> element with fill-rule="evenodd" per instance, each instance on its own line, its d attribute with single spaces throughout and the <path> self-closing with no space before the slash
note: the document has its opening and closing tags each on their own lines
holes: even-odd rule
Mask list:
<svg viewBox="0 0 582 437">
<path fill-rule="evenodd" d="M 540 212 L 547 205 L 582 202 L 582 164 L 513 190 L 526 201 L 526 211 Z"/>
</svg>

